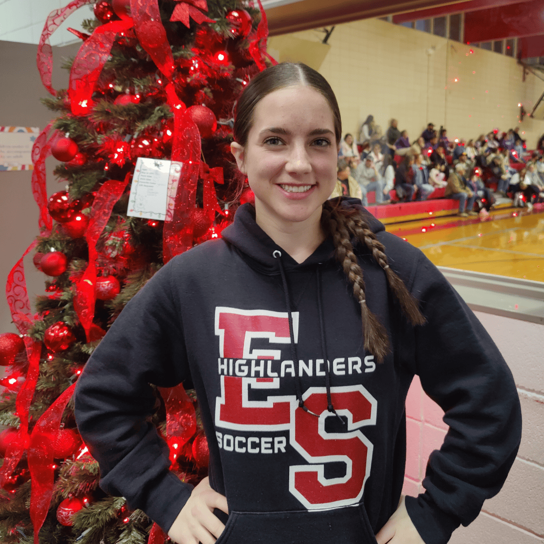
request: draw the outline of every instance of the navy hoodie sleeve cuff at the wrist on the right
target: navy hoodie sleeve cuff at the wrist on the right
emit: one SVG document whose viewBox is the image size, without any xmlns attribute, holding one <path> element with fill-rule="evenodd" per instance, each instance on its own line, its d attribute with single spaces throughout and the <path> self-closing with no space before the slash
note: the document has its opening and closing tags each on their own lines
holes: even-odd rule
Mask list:
<svg viewBox="0 0 544 544">
<path fill-rule="evenodd" d="M 425 544 L 446 544 L 460 521 L 443 512 L 424 493 L 418 497 L 406 496 L 406 511 Z"/>
</svg>

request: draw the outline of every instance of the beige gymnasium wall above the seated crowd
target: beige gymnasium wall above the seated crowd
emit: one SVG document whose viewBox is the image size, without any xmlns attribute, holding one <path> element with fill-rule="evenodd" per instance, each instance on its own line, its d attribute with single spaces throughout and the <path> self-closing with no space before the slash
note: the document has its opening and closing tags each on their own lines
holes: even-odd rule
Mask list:
<svg viewBox="0 0 544 544">
<path fill-rule="evenodd" d="M 324 34 L 306 30 L 287 36 L 321 41 Z M 281 51 L 283 40 L 270 38 L 269 52 Z M 544 90 L 544 82 L 531 74 L 523 82 L 522 67 L 510 57 L 477 47 L 471 54 L 465 44 L 379 19 L 338 24 L 328 44 L 319 72 L 335 91 L 344 133 L 356 134 L 372 114 L 384 131 L 391 118 L 398 119 L 411 139 L 427 122 L 446 126 L 450 139 L 477 138 L 494 127 L 514 128 L 517 104 L 530 112 Z M 528 149 L 534 149 L 544 121 L 525 118 L 520 129 Z"/>
</svg>

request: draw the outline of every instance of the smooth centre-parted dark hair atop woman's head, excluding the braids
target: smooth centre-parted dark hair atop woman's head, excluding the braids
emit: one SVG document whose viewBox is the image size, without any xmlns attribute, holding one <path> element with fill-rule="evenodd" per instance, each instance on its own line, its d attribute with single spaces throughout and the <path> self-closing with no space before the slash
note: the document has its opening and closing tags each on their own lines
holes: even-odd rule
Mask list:
<svg viewBox="0 0 544 544">
<path fill-rule="evenodd" d="M 307 85 L 320 92 L 329 103 L 335 124 L 336 143 L 342 139 L 340 110 L 329 82 L 310 66 L 302 63 L 280 63 L 258 73 L 242 92 L 234 111 L 234 141 L 244 146 L 253 122 L 257 104 L 271 92 L 292 85 Z"/>
</svg>

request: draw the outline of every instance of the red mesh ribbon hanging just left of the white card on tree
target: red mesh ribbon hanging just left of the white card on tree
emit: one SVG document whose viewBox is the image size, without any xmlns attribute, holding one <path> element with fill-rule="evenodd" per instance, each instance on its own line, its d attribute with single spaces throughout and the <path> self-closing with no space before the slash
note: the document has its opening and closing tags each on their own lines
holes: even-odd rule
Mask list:
<svg viewBox="0 0 544 544">
<path fill-rule="evenodd" d="M 92 319 L 95 317 L 96 243 L 112 215 L 115 202 L 120 199 L 123 191 L 125 191 L 130 175 L 131 174 L 126 175 L 125 181 L 105 181 L 92 202 L 89 226 L 85 233 L 85 239 L 89 246 L 89 264 L 87 265 L 83 276 L 77 282 L 76 296 L 73 298 L 73 307 L 77 313 L 79 322 L 85 330 L 87 342 L 90 342 L 89 333 L 92 326 Z"/>
</svg>

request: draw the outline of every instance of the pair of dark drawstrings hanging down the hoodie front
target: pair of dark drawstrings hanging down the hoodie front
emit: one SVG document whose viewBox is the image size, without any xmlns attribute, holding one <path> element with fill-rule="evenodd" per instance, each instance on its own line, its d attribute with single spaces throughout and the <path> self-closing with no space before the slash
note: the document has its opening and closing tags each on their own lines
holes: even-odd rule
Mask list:
<svg viewBox="0 0 544 544">
<path fill-rule="evenodd" d="M 302 400 L 302 386 L 300 384 L 300 374 L 299 374 L 299 358 L 296 353 L 296 344 L 295 344 L 295 335 L 293 331 L 293 314 L 291 309 L 291 298 L 289 295 L 289 287 L 287 285 L 287 276 L 285 275 L 285 269 L 283 268 L 283 263 L 281 261 L 281 251 L 274 251 L 272 256 L 277 259 L 277 264 L 280 269 L 281 281 L 283 283 L 283 294 L 285 295 L 285 305 L 287 307 L 287 314 L 289 317 L 289 335 L 291 342 L 291 357 L 293 358 L 293 363 L 295 366 L 295 388 L 296 388 L 296 398 L 299 401 L 299 407 L 302 408 L 305 412 L 311 413 L 312 416 L 319 417 L 317 413 L 313 413 L 311 410 L 308 410 L 307 406 Z M 331 376 L 329 369 L 329 358 L 327 357 L 327 347 L 325 342 L 325 320 L 323 317 L 323 304 L 322 304 L 322 293 L 321 293 L 321 275 L 319 269 L 317 270 L 317 305 L 319 313 L 319 330 L 321 334 L 321 351 L 323 356 L 323 361 L 325 363 L 325 388 L 327 391 L 327 410 L 332 412 L 341 422 L 345 425 L 344 420 L 336 413 L 334 406 L 332 405 L 331 400 Z"/>
</svg>

